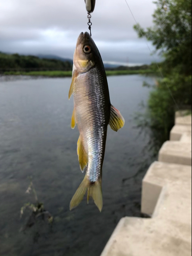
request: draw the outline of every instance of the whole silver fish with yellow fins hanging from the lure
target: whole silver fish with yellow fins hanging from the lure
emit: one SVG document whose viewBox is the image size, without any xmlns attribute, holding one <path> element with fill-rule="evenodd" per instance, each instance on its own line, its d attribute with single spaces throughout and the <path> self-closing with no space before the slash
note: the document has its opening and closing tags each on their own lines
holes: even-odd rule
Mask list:
<svg viewBox="0 0 192 256">
<path fill-rule="evenodd" d="M 86 175 L 70 203 L 76 208 L 88 191 L 101 212 L 102 165 L 108 125 L 117 132 L 124 126 L 121 113 L 111 104 L 108 80 L 99 50 L 88 32 L 81 33 L 73 60 L 72 83 L 69 99 L 74 96 L 71 128 L 79 130 L 77 155 L 80 169 Z"/>
</svg>

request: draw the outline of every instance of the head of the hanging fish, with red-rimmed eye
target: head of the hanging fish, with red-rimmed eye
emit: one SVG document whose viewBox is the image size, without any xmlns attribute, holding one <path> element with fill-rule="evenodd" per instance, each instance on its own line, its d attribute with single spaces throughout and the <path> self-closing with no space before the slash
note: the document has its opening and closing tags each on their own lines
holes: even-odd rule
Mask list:
<svg viewBox="0 0 192 256">
<path fill-rule="evenodd" d="M 74 65 L 78 72 L 86 73 L 95 66 L 100 57 L 94 40 L 88 32 L 81 33 L 77 40 L 74 54 Z"/>
</svg>

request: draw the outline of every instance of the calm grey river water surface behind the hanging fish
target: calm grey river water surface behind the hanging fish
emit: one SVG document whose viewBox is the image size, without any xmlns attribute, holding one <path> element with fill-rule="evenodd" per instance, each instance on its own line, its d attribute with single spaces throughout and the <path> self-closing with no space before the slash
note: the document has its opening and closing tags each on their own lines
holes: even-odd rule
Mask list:
<svg viewBox="0 0 192 256">
<path fill-rule="evenodd" d="M 103 164 L 103 210 L 86 198 L 72 212 L 69 203 L 83 179 L 76 154 L 78 130 L 71 130 L 73 100 L 68 101 L 69 78 L 0 78 L 0 255 L 98 256 L 120 218 L 140 216 L 141 180 L 151 164 L 150 141 L 135 129 L 133 115 L 146 102 L 150 89 L 139 75 L 109 77 L 112 104 L 125 126 L 108 131 Z M 29 177 L 46 211 L 19 232 L 33 211 L 20 219 L 20 209 L 36 203 L 26 194 Z M 37 207 L 37 205 L 36 205 Z"/>
</svg>

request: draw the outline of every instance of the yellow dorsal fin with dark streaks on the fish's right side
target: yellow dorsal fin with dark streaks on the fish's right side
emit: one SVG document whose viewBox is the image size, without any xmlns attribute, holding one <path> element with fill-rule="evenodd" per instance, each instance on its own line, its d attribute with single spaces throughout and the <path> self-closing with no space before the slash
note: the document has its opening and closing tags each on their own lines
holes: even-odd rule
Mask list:
<svg viewBox="0 0 192 256">
<path fill-rule="evenodd" d="M 111 105 L 111 116 L 110 116 L 110 126 L 111 129 L 117 132 L 124 126 L 125 120 L 122 117 L 121 113 Z"/>
</svg>

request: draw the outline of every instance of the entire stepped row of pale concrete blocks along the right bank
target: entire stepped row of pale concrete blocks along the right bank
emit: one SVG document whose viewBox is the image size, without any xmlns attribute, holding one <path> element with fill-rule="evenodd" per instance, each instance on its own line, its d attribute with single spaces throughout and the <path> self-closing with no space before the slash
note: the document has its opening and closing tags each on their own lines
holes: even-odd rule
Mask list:
<svg viewBox="0 0 192 256">
<path fill-rule="evenodd" d="M 191 255 L 191 116 L 178 112 L 175 123 L 142 183 L 152 218 L 122 218 L 101 256 Z"/>
</svg>

